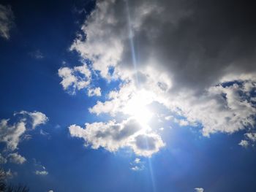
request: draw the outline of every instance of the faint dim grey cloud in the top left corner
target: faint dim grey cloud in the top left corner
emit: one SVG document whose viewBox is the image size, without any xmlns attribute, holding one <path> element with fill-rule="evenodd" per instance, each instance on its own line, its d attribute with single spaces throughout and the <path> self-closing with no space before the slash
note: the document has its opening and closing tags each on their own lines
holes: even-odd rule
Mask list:
<svg viewBox="0 0 256 192">
<path fill-rule="evenodd" d="M 10 29 L 14 25 L 14 15 L 10 6 L 0 4 L 0 36 L 10 38 Z"/>
</svg>

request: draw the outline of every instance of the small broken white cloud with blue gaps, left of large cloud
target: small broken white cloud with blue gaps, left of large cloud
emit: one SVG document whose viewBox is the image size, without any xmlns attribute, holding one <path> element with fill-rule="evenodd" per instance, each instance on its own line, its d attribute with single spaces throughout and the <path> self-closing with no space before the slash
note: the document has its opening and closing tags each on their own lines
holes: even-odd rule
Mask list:
<svg viewBox="0 0 256 192">
<path fill-rule="evenodd" d="M 91 82 L 91 71 L 86 64 L 74 68 L 61 67 L 58 74 L 62 78 L 62 87 L 71 94 L 75 94 L 77 90 L 87 88 Z"/>
</svg>

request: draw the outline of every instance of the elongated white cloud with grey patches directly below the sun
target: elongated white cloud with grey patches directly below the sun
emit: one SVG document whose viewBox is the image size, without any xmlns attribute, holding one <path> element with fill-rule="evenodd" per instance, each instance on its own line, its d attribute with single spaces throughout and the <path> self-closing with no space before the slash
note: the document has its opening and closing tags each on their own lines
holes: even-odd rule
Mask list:
<svg viewBox="0 0 256 192">
<path fill-rule="evenodd" d="M 121 147 L 130 147 L 137 155 L 151 156 L 165 146 L 158 134 L 147 133 L 143 126 L 132 118 L 121 123 L 86 123 L 85 128 L 72 125 L 69 126 L 69 132 L 72 137 L 84 139 L 86 145 L 91 145 L 94 149 L 104 147 L 111 152 Z"/>
</svg>

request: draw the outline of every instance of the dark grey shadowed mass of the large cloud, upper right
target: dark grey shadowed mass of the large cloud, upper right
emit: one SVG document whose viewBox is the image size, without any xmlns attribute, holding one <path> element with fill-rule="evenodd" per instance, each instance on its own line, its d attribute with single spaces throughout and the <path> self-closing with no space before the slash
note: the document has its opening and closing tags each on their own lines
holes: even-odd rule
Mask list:
<svg viewBox="0 0 256 192">
<path fill-rule="evenodd" d="M 217 84 L 225 74 L 255 72 L 256 22 L 252 4 L 159 1 L 157 7 L 160 11 L 151 11 L 134 30 L 138 65 L 148 65 L 154 58 L 153 64 L 169 72 L 178 88 L 206 88 Z M 173 19 L 178 10 L 173 15 L 169 12 L 176 7 L 181 14 Z M 126 52 L 123 56 L 127 59 L 121 61 L 131 58 Z"/>
</svg>

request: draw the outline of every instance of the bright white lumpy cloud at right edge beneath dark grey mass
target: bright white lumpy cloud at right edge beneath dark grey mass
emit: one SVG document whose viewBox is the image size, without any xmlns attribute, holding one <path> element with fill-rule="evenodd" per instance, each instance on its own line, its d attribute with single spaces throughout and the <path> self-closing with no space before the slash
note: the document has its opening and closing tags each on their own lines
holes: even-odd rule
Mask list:
<svg viewBox="0 0 256 192">
<path fill-rule="evenodd" d="M 255 125 L 256 109 L 244 90 L 244 84 L 217 85 L 209 88 L 200 97 L 181 98 L 176 101 L 182 115 L 191 122 L 203 125 L 203 135 L 216 132 L 232 134 Z"/>
</svg>

